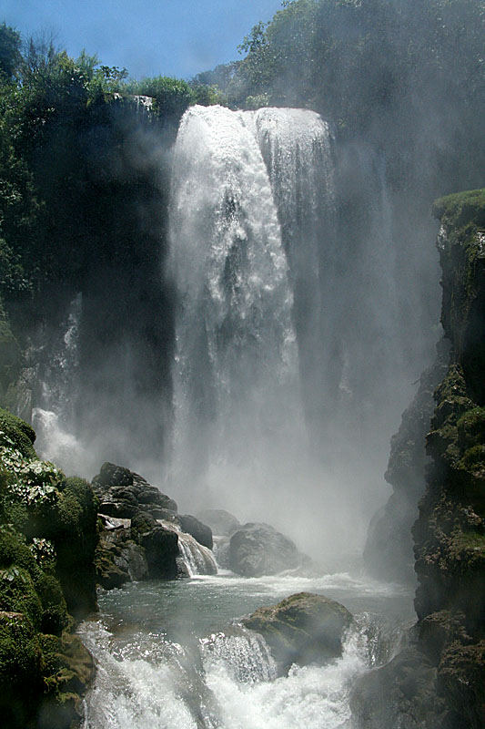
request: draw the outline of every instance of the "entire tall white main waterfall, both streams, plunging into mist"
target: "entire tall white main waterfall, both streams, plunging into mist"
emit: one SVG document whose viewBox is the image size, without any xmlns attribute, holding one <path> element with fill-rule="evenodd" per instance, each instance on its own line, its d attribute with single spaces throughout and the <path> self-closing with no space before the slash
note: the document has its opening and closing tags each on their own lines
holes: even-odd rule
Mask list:
<svg viewBox="0 0 485 729">
<path fill-rule="evenodd" d="M 196 106 L 181 121 L 169 266 L 178 294 L 172 480 L 186 495 L 196 484 L 220 505 L 230 486 L 243 507 L 249 488 L 258 507 L 263 490 L 283 495 L 298 477 L 307 435 L 297 337 L 315 330 L 320 309 L 318 182 L 327 180 L 329 204 L 329 169 L 328 126 L 314 112 Z"/>
</svg>

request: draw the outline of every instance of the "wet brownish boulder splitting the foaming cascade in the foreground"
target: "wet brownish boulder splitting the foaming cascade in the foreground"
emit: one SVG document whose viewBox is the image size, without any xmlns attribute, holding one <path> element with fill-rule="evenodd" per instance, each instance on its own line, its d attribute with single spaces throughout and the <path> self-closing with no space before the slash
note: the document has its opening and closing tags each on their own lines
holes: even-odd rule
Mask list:
<svg viewBox="0 0 485 729">
<path fill-rule="evenodd" d="M 260 633 L 285 673 L 292 663 L 323 664 L 342 653 L 342 639 L 353 618 L 338 602 L 323 595 L 299 592 L 265 608 L 242 622 Z"/>
</svg>

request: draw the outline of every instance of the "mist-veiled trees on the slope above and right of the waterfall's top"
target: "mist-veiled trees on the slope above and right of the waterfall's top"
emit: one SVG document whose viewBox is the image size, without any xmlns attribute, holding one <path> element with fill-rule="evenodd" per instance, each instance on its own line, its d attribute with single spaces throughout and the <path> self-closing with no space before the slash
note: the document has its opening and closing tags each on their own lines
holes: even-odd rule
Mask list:
<svg viewBox="0 0 485 729">
<path fill-rule="evenodd" d="M 429 186 L 432 198 L 485 164 L 484 24 L 477 0 L 294 0 L 253 28 L 220 88 L 233 108 L 260 95 L 314 108 L 385 151 L 396 189 Z"/>
</svg>

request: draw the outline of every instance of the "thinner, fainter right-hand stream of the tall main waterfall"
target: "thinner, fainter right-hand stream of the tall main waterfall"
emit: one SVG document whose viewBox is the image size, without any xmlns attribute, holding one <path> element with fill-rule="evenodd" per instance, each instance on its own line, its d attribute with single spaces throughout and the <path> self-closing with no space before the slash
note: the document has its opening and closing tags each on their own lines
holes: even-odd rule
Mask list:
<svg viewBox="0 0 485 729">
<path fill-rule="evenodd" d="M 298 339 L 301 395 L 310 430 L 338 390 L 338 257 L 333 140 L 328 122 L 308 109 L 248 112 L 268 168 L 287 252 Z M 326 402 L 327 401 L 327 402 Z"/>
</svg>

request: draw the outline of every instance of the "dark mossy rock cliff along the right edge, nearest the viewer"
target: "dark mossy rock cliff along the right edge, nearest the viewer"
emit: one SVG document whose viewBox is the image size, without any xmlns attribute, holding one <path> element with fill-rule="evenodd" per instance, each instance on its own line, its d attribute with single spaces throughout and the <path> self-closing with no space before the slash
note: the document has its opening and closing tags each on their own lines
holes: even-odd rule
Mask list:
<svg viewBox="0 0 485 729">
<path fill-rule="evenodd" d="M 356 687 L 361 729 L 485 725 L 485 190 L 438 200 L 435 213 L 451 350 L 413 528 L 419 620 L 408 652 Z"/>
</svg>

